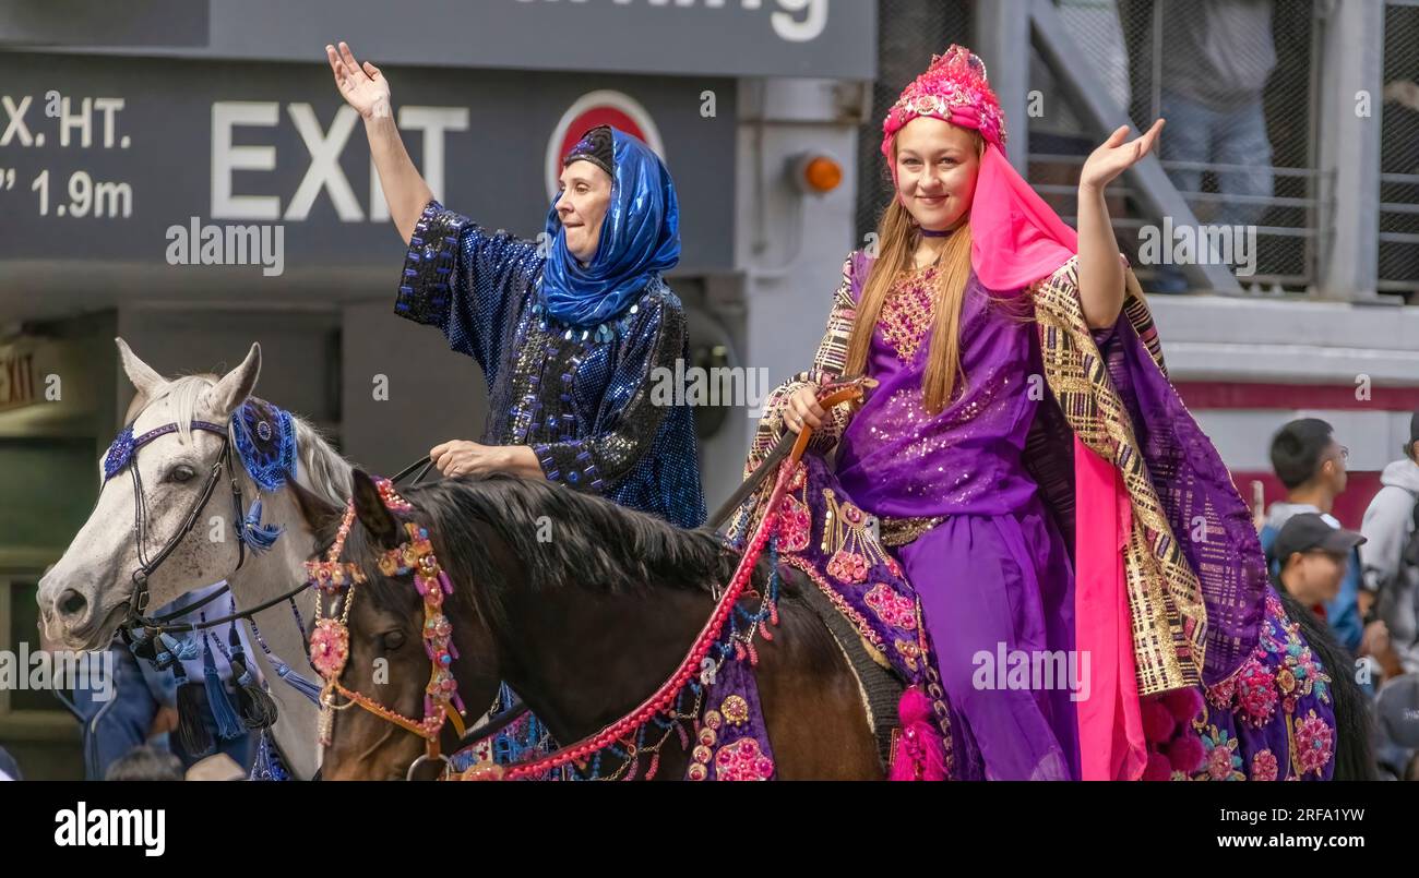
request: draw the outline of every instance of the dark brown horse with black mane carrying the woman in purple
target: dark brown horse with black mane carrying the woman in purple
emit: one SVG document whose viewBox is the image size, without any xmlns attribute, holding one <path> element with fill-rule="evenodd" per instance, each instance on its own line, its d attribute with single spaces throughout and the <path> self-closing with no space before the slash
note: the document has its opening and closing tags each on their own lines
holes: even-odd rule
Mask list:
<svg viewBox="0 0 1419 878">
<path fill-rule="evenodd" d="M 358 563 L 366 582 L 350 601 L 341 682 L 417 719 L 430 675 L 423 600 L 412 576 L 387 577 L 376 565 L 404 529 L 368 475 L 356 469 L 353 484 L 358 523 L 342 560 Z M 545 481 L 464 477 L 402 494 L 454 583 L 443 610 L 470 713 L 477 716 L 507 681 L 562 743 L 616 722 L 674 674 L 715 607 L 714 590 L 739 560 L 708 529 L 681 530 Z M 308 496 L 302 502 L 331 535 L 336 511 Z M 766 569 L 759 565 L 756 583 Z M 778 776 L 880 780 L 861 687 L 805 601 L 803 589 L 812 587 L 796 572 L 783 577 L 778 634 L 759 645 L 756 675 Z M 752 597 L 744 603 L 756 607 Z M 455 743 L 446 723 L 443 752 Z M 335 713 L 322 776 L 403 779 L 423 752 L 417 735 L 372 712 L 343 709 Z M 656 779 L 681 779 L 688 759 L 671 733 Z"/>
</svg>

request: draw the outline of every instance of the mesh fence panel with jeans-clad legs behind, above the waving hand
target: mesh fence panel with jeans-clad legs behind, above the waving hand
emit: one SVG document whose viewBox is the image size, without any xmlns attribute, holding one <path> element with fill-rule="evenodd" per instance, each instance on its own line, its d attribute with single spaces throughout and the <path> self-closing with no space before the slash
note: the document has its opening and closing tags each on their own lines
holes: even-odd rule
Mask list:
<svg viewBox="0 0 1419 878">
<path fill-rule="evenodd" d="M 1060 0 L 1060 17 L 1111 95 L 1127 95 L 1142 129 L 1168 119 L 1158 155 L 1200 224 L 1244 230 L 1253 258 L 1239 272 L 1247 292 L 1305 291 L 1315 282 L 1317 238 L 1328 207 L 1315 162 L 1317 7 L 1311 0 Z M 1117 28 L 1115 34 L 1110 34 Z M 1112 51 L 1121 41 L 1124 51 Z M 1033 121 L 1032 121 L 1033 122 Z M 1054 132 L 1040 126 L 1042 148 Z M 1083 162 L 1108 132 L 1081 130 Z M 1057 139 L 1057 138 L 1056 138 Z M 1067 143 L 1066 143 L 1067 145 Z M 1039 152 L 1032 126 L 1032 159 Z M 1056 162 L 1061 156 L 1054 156 Z M 1077 180 L 1077 170 L 1074 179 Z M 1120 245 L 1139 255 L 1176 217 L 1147 216 L 1127 186 L 1115 199 Z M 1250 230 L 1254 228 L 1254 238 Z M 1243 235 L 1237 237 L 1239 245 Z M 1135 260 L 1144 285 L 1181 292 L 1181 269 Z M 1233 265 L 1240 268 L 1240 265 Z"/>
</svg>

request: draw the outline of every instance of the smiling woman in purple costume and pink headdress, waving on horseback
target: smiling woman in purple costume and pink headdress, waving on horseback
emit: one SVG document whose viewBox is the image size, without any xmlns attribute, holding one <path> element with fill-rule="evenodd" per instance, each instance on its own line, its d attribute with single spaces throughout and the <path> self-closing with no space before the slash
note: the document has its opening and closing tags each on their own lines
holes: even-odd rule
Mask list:
<svg viewBox="0 0 1419 878">
<path fill-rule="evenodd" d="M 823 494 L 870 516 L 921 600 L 958 777 L 1332 770 L 1330 678 L 1304 641 L 1286 648 L 1244 504 L 1166 380 L 1110 227 L 1104 187 L 1161 128 L 1087 159 L 1076 233 L 1005 160 L 981 60 L 935 58 L 884 122 L 897 191 L 876 252 L 847 258 L 813 369 L 771 396 L 751 451 L 803 424 L 836 450 L 843 496 Z M 877 386 L 824 411 L 843 376 Z M 1219 535 L 1200 548 L 1174 538 L 1198 513 Z M 844 550 L 830 542 L 823 557 Z M 857 587 L 850 565 L 824 569 Z M 1243 704 L 1249 668 L 1274 699 Z"/>
</svg>

